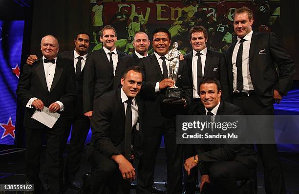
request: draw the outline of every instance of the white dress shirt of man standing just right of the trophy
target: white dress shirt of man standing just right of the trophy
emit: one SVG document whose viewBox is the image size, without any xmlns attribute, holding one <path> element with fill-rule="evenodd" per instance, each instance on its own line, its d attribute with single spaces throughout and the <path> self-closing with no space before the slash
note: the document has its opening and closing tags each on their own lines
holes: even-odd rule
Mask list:
<svg viewBox="0 0 299 194">
<path fill-rule="evenodd" d="M 206 64 L 206 57 L 207 57 L 207 47 L 202 49 L 200 51 L 201 55 L 201 69 L 202 69 L 202 76 L 204 75 L 205 72 L 205 64 Z M 197 93 L 197 60 L 198 56 L 196 55 L 197 51 L 193 50 L 193 55 L 192 55 L 192 80 L 193 80 L 193 98 L 200 98 L 198 93 Z"/>
</svg>

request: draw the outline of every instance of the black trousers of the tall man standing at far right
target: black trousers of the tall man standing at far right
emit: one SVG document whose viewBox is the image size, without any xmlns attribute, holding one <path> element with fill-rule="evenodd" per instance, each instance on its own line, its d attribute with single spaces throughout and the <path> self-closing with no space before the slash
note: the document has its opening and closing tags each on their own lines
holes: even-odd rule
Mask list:
<svg viewBox="0 0 299 194">
<path fill-rule="evenodd" d="M 271 115 L 274 114 L 273 105 L 261 104 L 256 95 L 249 97 L 234 97 L 233 104 L 242 108 L 248 115 Z M 252 128 L 256 128 L 252 126 Z M 272 130 L 271 136 L 274 136 Z M 256 145 L 264 167 L 264 181 L 266 194 L 286 194 L 285 182 L 281 162 L 278 159 L 277 145 Z"/>
</svg>

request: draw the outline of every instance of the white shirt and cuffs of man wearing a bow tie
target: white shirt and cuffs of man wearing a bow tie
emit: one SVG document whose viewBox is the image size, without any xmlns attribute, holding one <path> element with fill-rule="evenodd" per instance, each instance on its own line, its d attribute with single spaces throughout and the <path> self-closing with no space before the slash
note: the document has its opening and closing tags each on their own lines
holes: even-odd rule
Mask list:
<svg viewBox="0 0 299 194">
<path fill-rule="evenodd" d="M 45 57 L 43 56 L 44 60 Z M 43 62 L 43 69 L 44 69 L 44 75 L 46 78 L 46 82 L 47 82 L 47 87 L 48 87 L 48 91 L 50 91 L 52 83 L 53 83 L 53 79 L 54 79 L 54 75 L 55 75 L 55 69 L 56 69 L 56 62 L 57 62 L 57 57 L 54 58 L 55 60 L 55 64 L 52 63 L 44 63 Z M 28 103 L 26 104 L 26 107 L 28 108 L 32 108 L 32 102 L 37 100 L 38 98 L 33 97 L 30 98 Z M 60 111 L 64 110 L 64 104 L 60 101 L 56 101 L 56 103 L 60 106 Z"/>
</svg>

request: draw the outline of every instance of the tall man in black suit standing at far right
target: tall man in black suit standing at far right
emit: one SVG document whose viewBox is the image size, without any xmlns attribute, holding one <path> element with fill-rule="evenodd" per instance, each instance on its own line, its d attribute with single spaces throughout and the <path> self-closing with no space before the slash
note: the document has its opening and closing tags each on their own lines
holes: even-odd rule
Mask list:
<svg viewBox="0 0 299 194">
<path fill-rule="evenodd" d="M 224 100 L 242 108 L 245 114 L 274 113 L 273 103 L 280 103 L 292 87 L 295 64 L 272 32 L 253 32 L 253 12 L 247 7 L 235 10 L 235 43 L 227 49 L 221 64 Z M 278 69 L 278 71 L 277 71 Z M 269 123 L 269 129 L 273 124 Z M 260 129 L 252 126 L 252 129 Z M 276 145 L 256 145 L 264 167 L 265 190 L 285 194 L 285 183 Z"/>
</svg>

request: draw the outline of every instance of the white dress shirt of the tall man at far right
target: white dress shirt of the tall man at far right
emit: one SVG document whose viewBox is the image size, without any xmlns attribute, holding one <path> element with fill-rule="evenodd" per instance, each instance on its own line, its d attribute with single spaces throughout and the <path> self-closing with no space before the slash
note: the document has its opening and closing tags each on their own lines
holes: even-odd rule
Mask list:
<svg viewBox="0 0 299 194">
<path fill-rule="evenodd" d="M 249 72 L 249 49 L 250 49 L 250 43 L 251 43 L 251 37 L 252 37 L 253 31 L 249 32 L 243 39 L 246 41 L 243 42 L 243 53 L 242 53 L 242 77 L 243 77 L 243 91 L 249 91 L 254 90 L 254 87 L 252 85 L 250 72 Z M 238 91 L 236 89 L 236 74 L 237 74 L 237 68 L 236 68 L 236 57 L 237 53 L 240 47 L 240 38 L 237 37 L 237 43 L 235 44 L 233 57 L 232 57 L 232 64 L 233 64 L 233 75 L 234 75 L 234 83 L 233 88 L 234 92 Z"/>
</svg>

